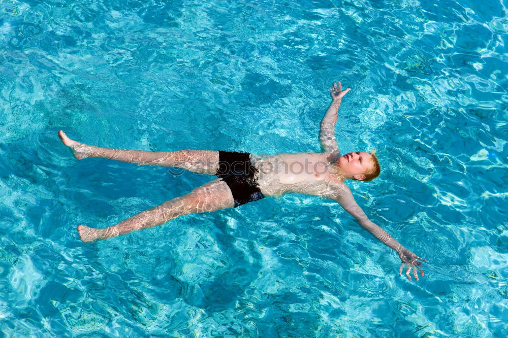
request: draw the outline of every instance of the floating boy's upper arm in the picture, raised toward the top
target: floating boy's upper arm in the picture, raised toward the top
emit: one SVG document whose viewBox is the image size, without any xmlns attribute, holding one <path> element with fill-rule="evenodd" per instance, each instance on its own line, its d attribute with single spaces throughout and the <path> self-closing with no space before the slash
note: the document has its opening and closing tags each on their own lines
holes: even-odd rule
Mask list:
<svg viewBox="0 0 508 338">
<path fill-rule="evenodd" d="M 342 97 L 350 91 L 350 88 L 342 91 L 340 82 L 335 83 L 330 89 L 330 96 L 332 96 L 332 103 L 328 107 L 325 116 L 321 120 L 319 140 L 321 148 L 327 153 L 339 153 L 337 140 L 335 139 L 335 123 L 337 122 L 337 113 L 342 101 Z"/>
</svg>

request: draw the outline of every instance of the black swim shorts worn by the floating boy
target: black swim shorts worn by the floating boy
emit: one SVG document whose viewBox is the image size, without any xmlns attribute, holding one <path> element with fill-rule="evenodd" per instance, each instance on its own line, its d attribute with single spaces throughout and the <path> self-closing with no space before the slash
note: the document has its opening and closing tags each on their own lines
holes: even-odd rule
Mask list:
<svg viewBox="0 0 508 338">
<path fill-rule="evenodd" d="M 219 168 L 215 175 L 228 184 L 235 199 L 235 208 L 265 197 L 256 180 L 257 172 L 250 162 L 249 153 L 219 151 Z"/>
</svg>

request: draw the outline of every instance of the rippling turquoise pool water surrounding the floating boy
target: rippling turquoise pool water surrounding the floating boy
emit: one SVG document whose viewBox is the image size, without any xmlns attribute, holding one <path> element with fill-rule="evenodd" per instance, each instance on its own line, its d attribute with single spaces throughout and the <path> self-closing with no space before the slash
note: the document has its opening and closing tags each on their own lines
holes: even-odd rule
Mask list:
<svg viewBox="0 0 508 338">
<path fill-rule="evenodd" d="M 0 3 L 0 335 L 501 337 L 508 19 L 495 0 Z M 328 87 L 367 215 L 284 195 L 83 244 L 210 177 L 76 161 L 90 145 L 317 151 Z"/>
</svg>

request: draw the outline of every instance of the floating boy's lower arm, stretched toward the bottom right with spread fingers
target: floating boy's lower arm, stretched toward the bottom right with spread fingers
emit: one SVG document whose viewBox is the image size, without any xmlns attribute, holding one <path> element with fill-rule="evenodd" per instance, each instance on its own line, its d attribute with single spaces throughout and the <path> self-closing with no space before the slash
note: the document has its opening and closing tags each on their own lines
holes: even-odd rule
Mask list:
<svg viewBox="0 0 508 338">
<path fill-rule="evenodd" d="M 362 208 L 357 204 L 355 201 L 355 198 L 353 197 L 353 194 L 351 193 L 351 190 L 344 185 L 343 191 L 341 191 L 339 196 L 334 196 L 333 199 L 337 201 L 342 208 L 344 208 L 345 211 L 347 211 L 351 216 L 355 218 L 355 220 L 360 223 L 362 228 L 366 229 L 370 233 L 374 235 L 375 238 L 377 238 L 379 241 L 383 242 L 393 250 L 395 250 L 400 260 L 402 261 L 402 264 L 399 268 L 399 275 L 402 275 L 402 269 L 404 265 L 407 265 L 407 271 L 406 276 L 407 279 L 411 280 L 411 276 L 409 276 L 409 272 L 413 271 L 413 276 L 415 276 L 415 279 L 418 281 L 418 274 L 417 274 L 417 266 L 420 269 L 420 275 L 423 277 L 423 270 L 420 267 L 422 265 L 420 260 L 425 260 L 423 258 L 418 257 L 411 251 L 404 248 L 399 242 L 397 242 L 388 232 L 383 230 L 381 227 L 379 227 L 374 222 L 371 222 L 367 215 L 363 212 Z"/>
</svg>

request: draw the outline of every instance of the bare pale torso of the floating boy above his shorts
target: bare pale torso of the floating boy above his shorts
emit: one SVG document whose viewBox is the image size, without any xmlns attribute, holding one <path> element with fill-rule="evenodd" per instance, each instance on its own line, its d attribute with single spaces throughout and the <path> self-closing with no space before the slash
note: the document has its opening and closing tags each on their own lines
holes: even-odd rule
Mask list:
<svg viewBox="0 0 508 338">
<path fill-rule="evenodd" d="M 286 192 L 328 196 L 344 185 L 337 177 L 335 159 L 332 153 L 252 155 L 252 164 L 259 170 L 258 185 L 265 196 Z"/>
</svg>

